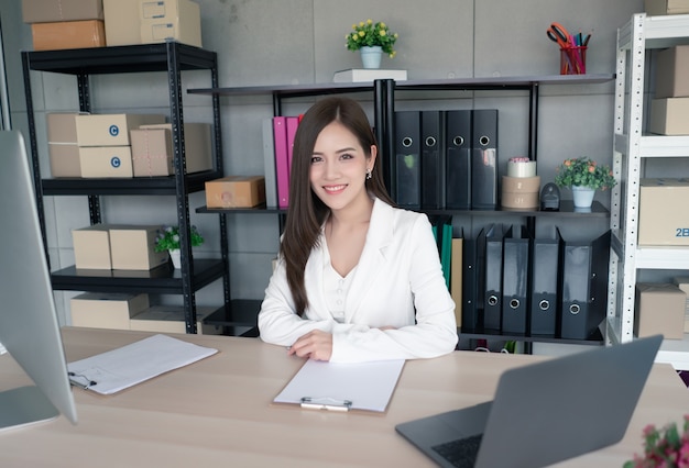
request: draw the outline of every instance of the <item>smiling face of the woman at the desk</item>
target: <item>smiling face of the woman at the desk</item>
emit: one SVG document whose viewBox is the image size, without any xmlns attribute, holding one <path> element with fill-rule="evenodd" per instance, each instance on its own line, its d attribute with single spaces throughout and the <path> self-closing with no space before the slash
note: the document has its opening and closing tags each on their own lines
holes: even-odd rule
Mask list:
<svg viewBox="0 0 689 468">
<path fill-rule="evenodd" d="M 335 121 L 318 134 L 314 145 L 309 179 L 311 190 L 332 211 L 356 207 L 369 199 L 367 170 L 375 163 L 344 125 Z"/>
</svg>

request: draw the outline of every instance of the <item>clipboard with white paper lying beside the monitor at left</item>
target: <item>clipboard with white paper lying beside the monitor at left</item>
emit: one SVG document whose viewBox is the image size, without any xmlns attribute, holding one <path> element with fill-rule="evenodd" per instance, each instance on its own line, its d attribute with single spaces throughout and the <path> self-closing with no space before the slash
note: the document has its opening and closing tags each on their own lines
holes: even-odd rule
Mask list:
<svg viewBox="0 0 689 468">
<path fill-rule="evenodd" d="M 112 394 L 167 371 L 218 353 L 166 335 L 153 335 L 131 345 L 67 365 L 73 383 Z"/>
</svg>

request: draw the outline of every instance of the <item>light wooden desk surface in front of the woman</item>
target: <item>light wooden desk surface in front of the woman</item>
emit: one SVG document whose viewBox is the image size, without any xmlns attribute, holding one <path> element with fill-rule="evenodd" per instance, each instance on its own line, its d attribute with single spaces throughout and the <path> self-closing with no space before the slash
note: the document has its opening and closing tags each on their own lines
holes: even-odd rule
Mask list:
<svg viewBox="0 0 689 468">
<path fill-rule="evenodd" d="M 149 334 L 64 328 L 73 361 Z M 456 352 L 405 364 L 384 415 L 273 405 L 303 360 L 256 338 L 176 335 L 219 354 L 121 393 L 75 390 L 79 424 L 65 417 L 0 434 L 0 465 L 15 466 L 412 466 L 433 464 L 398 436 L 397 423 L 490 400 L 499 375 L 542 357 Z M 25 385 L 0 356 L 0 390 Z M 689 391 L 655 365 L 624 439 L 562 467 L 620 467 L 642 448 L 648 423 L 680 421 Z"/>
</svg>

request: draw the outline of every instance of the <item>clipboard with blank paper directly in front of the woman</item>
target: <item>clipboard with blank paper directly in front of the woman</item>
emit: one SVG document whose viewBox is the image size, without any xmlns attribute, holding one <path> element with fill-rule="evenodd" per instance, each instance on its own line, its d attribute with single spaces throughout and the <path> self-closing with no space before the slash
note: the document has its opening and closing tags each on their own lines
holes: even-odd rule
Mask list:
<svg viewBox="0 0 689 468">
<path fill-rule="evenodd" d="M 305 410 L 384 413 L 404 367 L 404 359 L 328 363 L 308 359 L 274 403 Z"/>
</svg>

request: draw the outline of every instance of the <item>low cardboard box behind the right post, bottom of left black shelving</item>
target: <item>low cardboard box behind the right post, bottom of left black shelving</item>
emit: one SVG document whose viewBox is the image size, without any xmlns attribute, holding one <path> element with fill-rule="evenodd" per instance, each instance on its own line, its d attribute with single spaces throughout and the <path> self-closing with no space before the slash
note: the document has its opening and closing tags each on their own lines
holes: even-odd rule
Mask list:
<svg viewBox="0 0 689 468">
<path fill-rule="evenodd" d="M 214 308 L 196 308 L 196 328 L 199 335 L 221 335 L 222 327 L 206 325 L 204 319 L 214 312 Z M 157 333 L 186 333 L 184 308 L 179 305 L 152 305 L 132 316 L 130 330 Z"/>
</svg>

